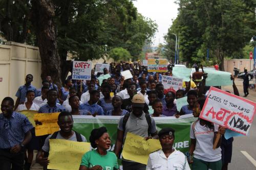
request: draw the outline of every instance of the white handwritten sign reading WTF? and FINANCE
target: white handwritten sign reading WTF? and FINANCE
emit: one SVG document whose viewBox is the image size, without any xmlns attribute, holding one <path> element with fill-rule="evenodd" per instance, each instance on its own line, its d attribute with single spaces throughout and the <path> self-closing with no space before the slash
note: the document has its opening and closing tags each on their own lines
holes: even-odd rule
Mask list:
<svg viewBox="0 0 256 170">
<path fill-rule="evenodd" d="M 73 80 L 91 80 L 92 62 L 73 61 Z"/>
</svg>

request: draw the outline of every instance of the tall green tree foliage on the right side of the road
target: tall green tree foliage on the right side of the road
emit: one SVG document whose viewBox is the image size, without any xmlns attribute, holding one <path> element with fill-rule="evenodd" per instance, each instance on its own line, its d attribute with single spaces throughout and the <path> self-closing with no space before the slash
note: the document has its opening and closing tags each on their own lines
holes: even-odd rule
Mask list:
<svg viewBox="0 0 256 170">
<path fill-rule="evenodd" d="M 175 46 L 172 33 L 180 37 L 180 59 L 206 63 L 207 48 L 212 63 L 225 57 L 243 58 L 243 47 L 255 34 L 255 1 L 180 0 L 179 14 L 165 36 L 166 46 Z M 170 51 L 170 50 L 169 50 Z"/>
</svg>

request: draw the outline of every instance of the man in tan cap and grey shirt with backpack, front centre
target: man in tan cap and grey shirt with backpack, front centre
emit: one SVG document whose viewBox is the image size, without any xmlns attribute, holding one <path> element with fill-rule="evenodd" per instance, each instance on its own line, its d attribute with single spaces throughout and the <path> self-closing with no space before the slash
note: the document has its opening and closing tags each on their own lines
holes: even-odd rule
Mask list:
<svg viewBox="0 0 256 170">
<path fill-rule="evenodd" d="M 157 129 L 154 118 L 143 112 L 145 100 L 141 94 L 135 94 L 132 99 L 131 114 L 126 114 L 119 119 L 117 140 L 114 152 L 118 157 L 125 142 L 127 132 L 144 137 L 146 140 L 157 137 Z M 131 160 L 122 160 L 123 170 L 137 169 L 145 170 L 146 165 Z"/>
</svg>

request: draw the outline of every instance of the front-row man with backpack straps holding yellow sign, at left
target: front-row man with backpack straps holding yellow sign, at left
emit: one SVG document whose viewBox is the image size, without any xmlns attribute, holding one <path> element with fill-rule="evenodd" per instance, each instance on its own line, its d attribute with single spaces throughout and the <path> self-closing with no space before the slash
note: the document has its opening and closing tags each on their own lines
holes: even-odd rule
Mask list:
<svg viewBox="0 0 256 170">
<path fill-rule="evenodd" d="M 65 139 L 79 142 L 86 142 L 86 137 L 72 130 L 73 128 L 73 117 L 69 112 L 61 112 L 58 115 L 58 125 L 60 131 L 49 135 L 42 149 L 36 155 L 36 162 L 40 165 L 44 166 L 44 169 L 47 169 L 47 165 L 51 160 L 48 160 L 49 151 L 50 151 L 50 143 L 49 139 Z"/>
</svg>

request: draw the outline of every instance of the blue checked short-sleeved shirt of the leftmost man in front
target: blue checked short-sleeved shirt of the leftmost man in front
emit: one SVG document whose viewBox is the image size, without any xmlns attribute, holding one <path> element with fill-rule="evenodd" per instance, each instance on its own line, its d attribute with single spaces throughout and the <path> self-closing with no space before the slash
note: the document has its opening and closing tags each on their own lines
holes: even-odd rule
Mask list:
<svg viewBox="0 0 256 170">
<path fill-rule="evenodd" d="M 10 149 L 22 143 L 32 128 L 28 118 L 21 113 L 13 111 L 10 118 L 0 114 L 0 149 Z"/>
</svg>

